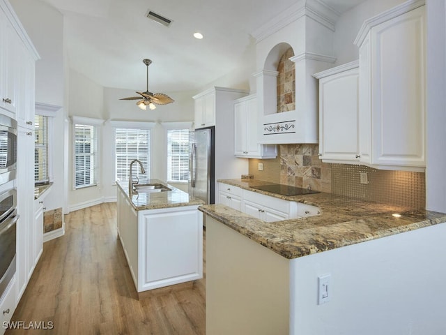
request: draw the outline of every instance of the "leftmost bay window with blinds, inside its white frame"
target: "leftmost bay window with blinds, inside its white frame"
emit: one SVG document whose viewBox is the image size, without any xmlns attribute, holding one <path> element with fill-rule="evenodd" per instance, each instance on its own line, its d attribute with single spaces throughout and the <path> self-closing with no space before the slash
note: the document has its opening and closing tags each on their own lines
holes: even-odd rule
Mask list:
<svg viewBox="0 0 446 335">
<path fill-rule="evenodd" d="M 97 168 L 97 127 L 88 124 L 75 124 L 75 188 L 95 186 Z"/>
</svg>

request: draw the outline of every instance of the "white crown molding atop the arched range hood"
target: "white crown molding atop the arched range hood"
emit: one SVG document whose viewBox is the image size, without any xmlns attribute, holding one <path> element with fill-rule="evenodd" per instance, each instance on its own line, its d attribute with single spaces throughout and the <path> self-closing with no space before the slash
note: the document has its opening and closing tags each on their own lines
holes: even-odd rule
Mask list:
<svg viewBox="0 0 446 335">
<path fill-rule="evenodd" d="M 334 31 L 334 24 L 339 19 L 339 13 L 325 5 L 319 0 L 300 0 L 293 6 L 279 13 L 276 17 L 273 17 L 270 21 L 263 24 L 258 29 L 252 32 L 252 36 L 256 38 L 256 42 L 268 38 L 272 34 L 276 33 L 280 29 L 286 27 L 291 22 L 295 22 L 300 17 L 310 17 L 314 21 L 322 24 L 328 29 Z"/>
</svg>

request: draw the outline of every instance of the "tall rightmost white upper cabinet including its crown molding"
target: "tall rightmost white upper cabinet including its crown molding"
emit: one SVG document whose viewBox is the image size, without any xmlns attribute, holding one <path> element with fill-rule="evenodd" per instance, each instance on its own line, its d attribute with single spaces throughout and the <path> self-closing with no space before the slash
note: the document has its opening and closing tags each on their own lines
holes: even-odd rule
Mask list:
<svg viewBox="0 0 446 335">
<path fill-rule="evenodd" d="M 426 22 L 424 1 L 366 20 L 360 47 L 360 161 L 424 171 Z"/>
</svg>

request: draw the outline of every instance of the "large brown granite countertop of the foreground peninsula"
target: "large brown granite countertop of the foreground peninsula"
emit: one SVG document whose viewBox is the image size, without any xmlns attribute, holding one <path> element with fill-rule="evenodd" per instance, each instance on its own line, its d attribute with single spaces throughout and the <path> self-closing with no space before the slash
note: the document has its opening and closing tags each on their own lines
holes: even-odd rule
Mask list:
<svg viewBox="0 0 446 335">
<path fill-rule="evenodd" d="M 331 193 L 278 195 L 251 188 L 272 184 L 256 179 L 219 181 L 275 198 L 312 204 L 321 209 L 318 216 L 268 223 L 222 204 L 199 207 L 208 216 L 288 259 L 446 222 L 446 214 L 425 209 L 364 202 Z M 401 217 L 392 214 L 400 214 Z"/>
</svg>

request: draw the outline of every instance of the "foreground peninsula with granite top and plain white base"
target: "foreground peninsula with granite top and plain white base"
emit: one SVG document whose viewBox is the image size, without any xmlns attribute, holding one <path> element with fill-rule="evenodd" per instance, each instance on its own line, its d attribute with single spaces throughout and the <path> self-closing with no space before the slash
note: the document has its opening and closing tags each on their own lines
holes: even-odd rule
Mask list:
<svg viewBox="0 0 446 335">
<path fill-rule="evenodd" d="M 436 299 L 446 280 L 446 214 L 330 193 L 287 197 L 252 188 L 267 184 L 257 180 L 220 182 L 320 214 L 266 222 L 222 204 L 199 208 L 208 334 L 446 332 L 446 302 Z M 324 287 L 328 299 L 319 299 Z"/>
</svg>

